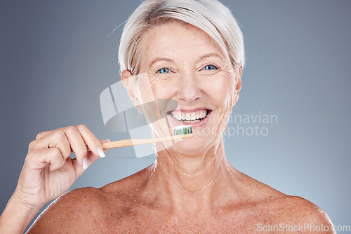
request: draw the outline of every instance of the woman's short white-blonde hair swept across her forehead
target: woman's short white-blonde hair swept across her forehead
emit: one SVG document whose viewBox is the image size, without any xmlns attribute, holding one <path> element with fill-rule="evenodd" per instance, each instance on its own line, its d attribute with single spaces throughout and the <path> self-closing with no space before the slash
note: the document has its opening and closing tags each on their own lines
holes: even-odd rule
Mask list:
<svg viewBox="0 0 351 234">
<path fill-rule="evenodd" d="M 146 0 L 126 21 L 119 44 L 120 70 L 139 73 L 141 39 L 148 29 L 178 20 L 198 27 L 214 39 L 230 63 L 244 67 L 244 37 L 230 10 L 217 0 Z"/>
</svg>

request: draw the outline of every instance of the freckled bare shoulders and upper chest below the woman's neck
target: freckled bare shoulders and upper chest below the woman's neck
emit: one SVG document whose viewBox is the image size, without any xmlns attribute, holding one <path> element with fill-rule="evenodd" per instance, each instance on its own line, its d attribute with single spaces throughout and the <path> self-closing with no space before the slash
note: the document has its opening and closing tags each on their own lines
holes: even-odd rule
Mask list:
<svg viewBox="0 0 351 234">
<path fill-rule="evenodd" d="M 240 198 L 230 198 L 208 213 L 177 214 L 147 189 L 152 167 L 102 188 L 79 188 L 62 195 L 29 233 L 270 233 L 258 232 L 258 223 L 331 225 L 311 202 L 284 195 L 234 169 Z"/>
</svg>

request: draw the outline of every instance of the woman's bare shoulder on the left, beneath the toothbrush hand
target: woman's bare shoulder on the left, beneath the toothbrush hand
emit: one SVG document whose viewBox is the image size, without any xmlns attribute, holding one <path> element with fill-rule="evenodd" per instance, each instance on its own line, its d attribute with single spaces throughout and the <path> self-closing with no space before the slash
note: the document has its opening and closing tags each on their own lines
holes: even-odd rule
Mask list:
<svg viewBox="0 0 351 234">
<path fill-rule="evenodd" d="M 86 233 L 106 231 L 107 222 L 132 209 L 138 188 L 150 170 L 145 168 L 102 188 L 77 188 L 61 195 L 34 221 L 28 233 Z"/>
</svg>

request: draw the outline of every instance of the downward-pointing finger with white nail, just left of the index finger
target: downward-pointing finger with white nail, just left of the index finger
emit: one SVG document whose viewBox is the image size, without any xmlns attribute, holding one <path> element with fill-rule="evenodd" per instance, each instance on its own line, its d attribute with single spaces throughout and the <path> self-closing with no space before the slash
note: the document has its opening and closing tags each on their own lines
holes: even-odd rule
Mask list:
<svg viewBox="0 0 351 234">
<path fill-rule="evenodd" d="M 88 150 L 86 149 L 86 143 L 84 142 L 84 139 L 81 137 L 81 134 L 74 126 L 62 128 L 62 130 L 63 132 L 65 132 L 69 145 L 76 154 L 77 160 L 79 161 L 81 166 L 83 166 L 83 159 L 86 158 L 86 153 L 88 152 Z"/>
</svg>

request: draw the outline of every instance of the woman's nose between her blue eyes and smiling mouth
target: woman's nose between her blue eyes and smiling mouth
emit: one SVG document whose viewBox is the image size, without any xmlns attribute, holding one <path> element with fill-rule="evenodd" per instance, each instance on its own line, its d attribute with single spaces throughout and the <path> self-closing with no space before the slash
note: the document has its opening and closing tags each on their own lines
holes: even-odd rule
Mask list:
<svg viewBox="0 0 351 234">
<path fill-rule="evenodd" d="M 179 102 L 183 101 L 186 104 L 192 104 L 201 97 L 201 90 L 194 78 L 185 78 L 181 80 L 181 85 L 177 95 L 178 100 Z"/>
</svg>

